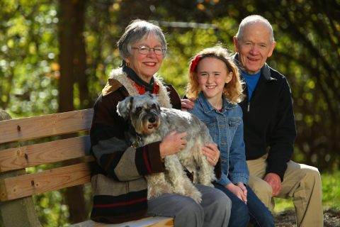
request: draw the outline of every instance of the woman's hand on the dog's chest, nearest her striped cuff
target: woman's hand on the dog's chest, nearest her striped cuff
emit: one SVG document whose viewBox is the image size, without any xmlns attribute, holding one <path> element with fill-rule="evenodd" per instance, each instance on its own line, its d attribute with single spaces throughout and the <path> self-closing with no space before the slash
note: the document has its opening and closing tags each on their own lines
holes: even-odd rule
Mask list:
<svg viewBox="0 0 340 227">
<path fill-rule="evenodd" d="M 159 152 L 161 157 L 164 158 L 166 155 L 174 155 L 186 146 L 186 135 L 188 133 L 178 133 L 171 131 L 163 138 L 159 144 Z"/>
</svg>

